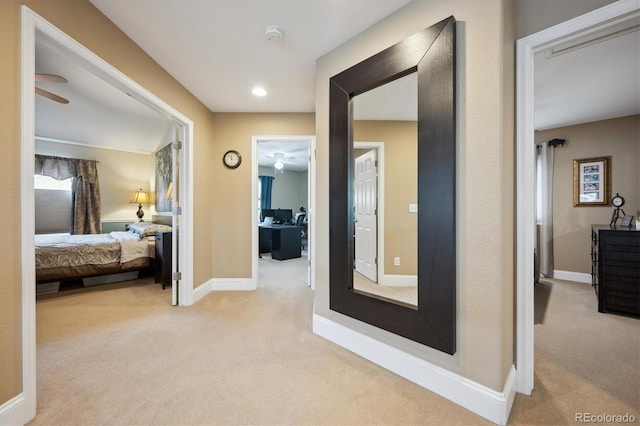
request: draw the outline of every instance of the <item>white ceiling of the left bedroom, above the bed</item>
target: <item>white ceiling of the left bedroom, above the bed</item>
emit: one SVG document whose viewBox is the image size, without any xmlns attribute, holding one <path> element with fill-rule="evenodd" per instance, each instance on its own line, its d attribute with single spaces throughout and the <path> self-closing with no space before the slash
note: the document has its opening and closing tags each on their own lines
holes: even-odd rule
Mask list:
<svg viewBox="0 0 640 426">
<path fill-rule="evenodd" d="M 63 105 L 35 97 L 36 139 L 151 153 L 169 129 L 169 118 L 88 72 L 44 37 L 36 38 L 35 71 L 66 78 L 36 86 L 69 100 Z"/>
</svg>

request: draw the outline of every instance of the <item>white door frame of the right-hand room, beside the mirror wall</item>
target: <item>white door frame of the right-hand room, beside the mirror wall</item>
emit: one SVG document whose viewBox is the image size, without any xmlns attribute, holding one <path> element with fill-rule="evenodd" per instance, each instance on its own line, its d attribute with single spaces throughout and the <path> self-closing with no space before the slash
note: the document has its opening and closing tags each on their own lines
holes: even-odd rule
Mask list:
<svg viewBox="0 0 640 426">
<path fill-rule="evenodd" d="M 534 61 L 536 52 L 640 14 L 638 0 L 620 0 L 517 41 L 516 57 L 516 364 L 517 390 L 533 390 L 533 250 L 535 235 Z"/>
</svg>

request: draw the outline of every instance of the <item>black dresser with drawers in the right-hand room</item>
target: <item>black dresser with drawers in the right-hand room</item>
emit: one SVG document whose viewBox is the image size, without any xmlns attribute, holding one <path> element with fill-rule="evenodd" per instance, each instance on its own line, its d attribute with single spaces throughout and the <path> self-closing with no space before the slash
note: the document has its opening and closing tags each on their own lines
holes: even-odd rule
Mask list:
<svg viewBox="0 0 640 426">
<path fill-rule="evenodd" d="M 640 230 L 592 225 L 591 278 L 598 312 L 640 318 Z"/>
</svg>

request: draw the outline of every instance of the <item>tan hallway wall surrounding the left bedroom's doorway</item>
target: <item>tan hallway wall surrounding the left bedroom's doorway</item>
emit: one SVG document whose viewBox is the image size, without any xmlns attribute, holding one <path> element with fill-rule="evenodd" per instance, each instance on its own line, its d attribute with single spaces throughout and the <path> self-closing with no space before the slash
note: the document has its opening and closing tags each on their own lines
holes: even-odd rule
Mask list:
<svg viewBox="0 0 640 426">
<path fill-rule="evenodd" d="M 211 112 L 187 92 L 142 49 L 104 17 L 87 0 L 0 1 L 0 170 L 4 185 L 0 197 L 8 206 L 0 216 L 5 244 L 0 251 L 0 404 L 22 391 L 21 257 L 20 247 L 20 19 L 22 4 L 50 21 L 76 41 L 127 74 L 147 90 L 194 121 L 194 221 L 199 235 L 212 235 L 214 190 L 212 170 Z M 194 282 L 212 276 L 212 238 L 194 242 Z"/>
</svg>

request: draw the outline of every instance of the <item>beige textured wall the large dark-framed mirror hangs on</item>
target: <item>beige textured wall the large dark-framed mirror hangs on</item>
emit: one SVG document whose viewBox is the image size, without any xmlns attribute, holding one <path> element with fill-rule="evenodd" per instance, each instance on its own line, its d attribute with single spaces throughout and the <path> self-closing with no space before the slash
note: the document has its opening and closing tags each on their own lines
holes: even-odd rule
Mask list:
<svg viewBox="0 0 640 426">
<path fill-rule="evenodd" d="M 329 78 L 450 15 L 458 20 L 458 350 L 445 355 L 329 309 L 326 209 L 316 215 L 315 314 L 501 391 L 514 361 L 511 2 L 414 1 L 317 61 L 318 205 L 330 197 Z"/>
</svg>

